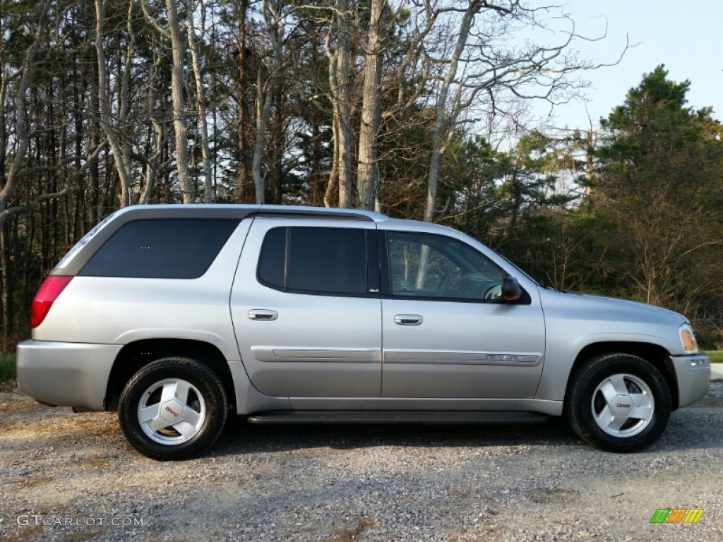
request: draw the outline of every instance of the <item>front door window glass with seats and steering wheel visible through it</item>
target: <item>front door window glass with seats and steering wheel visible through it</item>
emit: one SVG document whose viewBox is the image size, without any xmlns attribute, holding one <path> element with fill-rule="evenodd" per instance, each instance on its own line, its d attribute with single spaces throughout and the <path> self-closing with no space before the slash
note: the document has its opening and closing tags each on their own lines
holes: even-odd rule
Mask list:
<svg viewBox="0 0 723 542">
<path fill-rule="evenodd" d="M 393 296 L 502 299 L 504 272 L 461 241 L 428 233 L 388 232 L 387 249 Z"/>
</svg>

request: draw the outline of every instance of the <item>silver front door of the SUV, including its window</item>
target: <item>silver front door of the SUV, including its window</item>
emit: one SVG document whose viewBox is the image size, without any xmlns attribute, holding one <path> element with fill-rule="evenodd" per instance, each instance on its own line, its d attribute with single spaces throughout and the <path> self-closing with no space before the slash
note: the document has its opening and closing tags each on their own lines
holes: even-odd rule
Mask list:
<svg viewBox="0 0 723 542">
<path fill-rule="evenodd" d="M 461 240 L 381 238 L 382 397 L 533 397 L 544 358 L 536 291 L 504 301 L 505 272 Z"/>
</svg>

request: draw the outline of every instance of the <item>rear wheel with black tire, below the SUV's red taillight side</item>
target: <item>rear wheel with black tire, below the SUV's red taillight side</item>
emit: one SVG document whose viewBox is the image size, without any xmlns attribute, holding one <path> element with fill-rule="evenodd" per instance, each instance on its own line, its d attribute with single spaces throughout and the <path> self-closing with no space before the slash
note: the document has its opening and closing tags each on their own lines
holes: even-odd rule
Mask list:
<svg viewBox="0 0 723 542">
<path fill-rule="evenodd" d="M 226 423 L 226 390 L 204 364 L 163 358 L 144 366 L 121 392 L 118 418 L 128 442 L 155 460 L 201 455 Z"/>
</svg>

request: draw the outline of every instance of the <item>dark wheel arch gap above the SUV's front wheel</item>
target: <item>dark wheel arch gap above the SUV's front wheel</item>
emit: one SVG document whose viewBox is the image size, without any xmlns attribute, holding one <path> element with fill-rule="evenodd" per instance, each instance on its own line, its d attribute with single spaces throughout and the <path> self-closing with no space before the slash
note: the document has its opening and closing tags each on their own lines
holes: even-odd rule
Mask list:
<svg viewBox="0 0 723 542">
<path fill-rule="evenodd" d="M 585 348 L 580 350 L 577 357 L 575 358 L 572 369 L 570 369 L 568 383 L 565 387 L 565 402 L 567 402 L 568 400 L 568 393 L 570 392 L 570 386 L 575 379 L 575 374 L 577 371 L 580 370 L 580 368 L 585 364 L 585 362 L 588 361 L 590 358 L 593 358 L 594 356 L 612 353 L 630 354 L 631 356 L 638 356 L 638 358 L 643 358 L 645 361 L 648 361 L 649 364 L 658 369 L 665 378 L 665 382 L 668 384 L 670 390 L 672 410 L 677 410 L 679 403 L 679 394 L 677 379 L 675 377 L 675 367 L 673 366 L 672 359 L 670 358 L 670 353 L 662 346 L 653 343 L 609 341 L 601 343 L 591 343 L 589 345 L 586 345 Z"/>
</svg>

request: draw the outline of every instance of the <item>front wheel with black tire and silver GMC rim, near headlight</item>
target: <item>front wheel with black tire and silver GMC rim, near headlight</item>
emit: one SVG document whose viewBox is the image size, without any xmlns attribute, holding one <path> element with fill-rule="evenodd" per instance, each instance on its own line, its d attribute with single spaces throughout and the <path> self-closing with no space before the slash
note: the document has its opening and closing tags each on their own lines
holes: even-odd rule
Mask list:
<svg viewBox="0 0 723 542">
<path fill-rule="evenodd" d="M 670 389 L 648 361 L 623 353 L 591 358 L 575 374 L 565 416 L 578 436 L 610 452 L 636 452 L 665 430 Z"/>
</svg>

